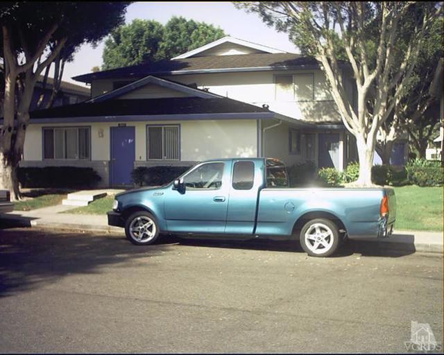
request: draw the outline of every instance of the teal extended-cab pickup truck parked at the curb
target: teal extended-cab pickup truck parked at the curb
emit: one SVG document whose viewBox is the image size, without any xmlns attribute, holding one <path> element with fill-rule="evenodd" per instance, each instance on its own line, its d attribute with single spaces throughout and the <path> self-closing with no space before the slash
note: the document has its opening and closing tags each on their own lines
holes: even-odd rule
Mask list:
<svg viewBox="0 0 444 355">
<path fill-rule="evenodd" d="M 385 238 L 393 231 L 393 189 L 289 188 L 278 159 L 200 162 L 161 187 L 116 195 L 108 224 L 137 245 L 161 233 L 237 239 L 299 239 L 314 257 L 333 254 L 347 236 Z"/>
</svg>

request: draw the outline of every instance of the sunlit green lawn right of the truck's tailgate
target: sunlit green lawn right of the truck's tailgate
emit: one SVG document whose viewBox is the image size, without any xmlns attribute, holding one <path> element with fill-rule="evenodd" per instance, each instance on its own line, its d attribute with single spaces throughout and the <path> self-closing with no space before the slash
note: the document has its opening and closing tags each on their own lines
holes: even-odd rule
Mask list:
<svg viewBox="0 0 444 355">
<path fill-rule="evenodd" d="M 443 231 L 443 187 L 395 187 L 397 230 Z"/>
</svg>

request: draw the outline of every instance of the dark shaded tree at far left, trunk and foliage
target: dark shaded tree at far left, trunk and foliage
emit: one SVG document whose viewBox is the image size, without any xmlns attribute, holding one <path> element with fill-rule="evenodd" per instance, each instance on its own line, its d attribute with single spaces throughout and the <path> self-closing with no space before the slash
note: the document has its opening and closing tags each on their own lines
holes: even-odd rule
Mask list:
<svg viewBox="0 0 444 355">
<path fill-rule="evenodd" d="M 19 198 L 29 106 L 40 74 L 57 58 L 69 60 L 83 43 L 95 44 L 123 23 L 127 2 L 2 2 L 3 126 L 0 128 L 0 187 Z"/>
</svg>

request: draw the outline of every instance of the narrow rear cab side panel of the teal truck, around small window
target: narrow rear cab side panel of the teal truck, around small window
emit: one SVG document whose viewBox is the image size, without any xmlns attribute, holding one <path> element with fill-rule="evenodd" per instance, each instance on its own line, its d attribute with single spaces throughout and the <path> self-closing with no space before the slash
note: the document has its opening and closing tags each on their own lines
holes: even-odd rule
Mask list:
<svg viewBox="0 0 444 355">
<path fill-rule="evenodd" d="M 262 175 L 252 160 L 233 161 L 225 234 L 253 234 Z"/>
</svg>

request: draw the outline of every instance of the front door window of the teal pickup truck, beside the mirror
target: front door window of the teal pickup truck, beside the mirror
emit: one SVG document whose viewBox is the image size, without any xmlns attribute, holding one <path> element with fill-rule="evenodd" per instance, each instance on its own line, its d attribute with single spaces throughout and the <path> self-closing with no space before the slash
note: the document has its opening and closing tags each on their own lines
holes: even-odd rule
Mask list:
<svg viewBox="0 0 444 355">
<path fill-rule="evenodd" d="M 222 186 L 223 163 L 207 163 L 185 175 L 187 189 L 219 189 Z"/>
</svg>

